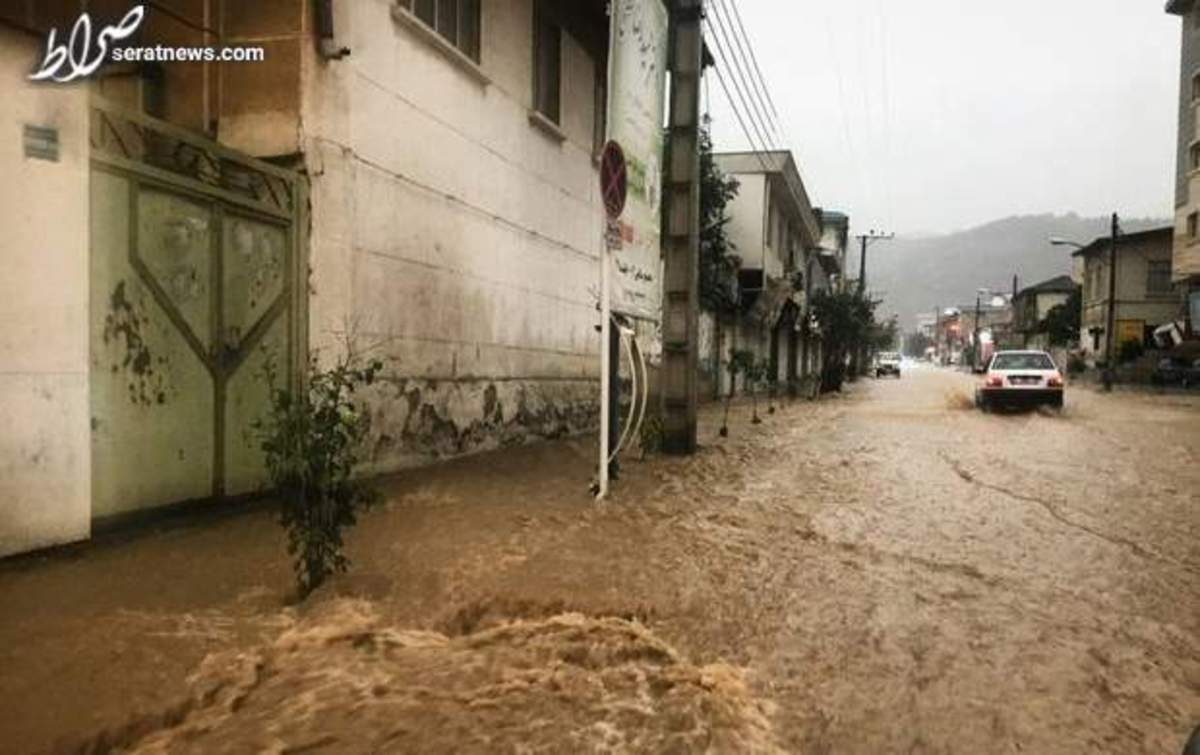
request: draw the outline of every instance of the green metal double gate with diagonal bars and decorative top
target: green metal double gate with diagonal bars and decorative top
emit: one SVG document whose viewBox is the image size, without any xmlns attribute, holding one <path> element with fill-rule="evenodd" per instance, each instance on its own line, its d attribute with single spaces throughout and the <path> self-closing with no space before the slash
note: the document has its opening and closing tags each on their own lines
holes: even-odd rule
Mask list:
<svg viewBox="0 0 1200 755">
<path fill-rule="evenodd" d="M 253 492 L 264 370 L 305 358 L 305 185 L 95 100 L 92 517 Z"/>
</svg>

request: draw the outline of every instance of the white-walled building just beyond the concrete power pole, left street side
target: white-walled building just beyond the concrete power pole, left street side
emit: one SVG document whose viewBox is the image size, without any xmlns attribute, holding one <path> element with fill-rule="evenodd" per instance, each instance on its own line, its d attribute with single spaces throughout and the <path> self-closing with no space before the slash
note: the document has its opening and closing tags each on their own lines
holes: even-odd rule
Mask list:
<svg viewBox="0 0 1200 755">
<path fill-rule="evenodd" d="M 835 257 L 820 252 L 821 222 L 791 152 L 726 152 L 715 160 L 739 182 L 727 212 L 730 239 L 742 262 L 740 316 L 722 331 L 718 348 L 725 360 L 734 350 L 750 352 L 768 365 L 776 383 L 792 387 L 804 377 L 805 293 L 836 280 Z M 836 235 L 835 223 L 830 233 Z M 721 381 L 721 391 L 727 391 L 727 370 Z"/>
</svg>

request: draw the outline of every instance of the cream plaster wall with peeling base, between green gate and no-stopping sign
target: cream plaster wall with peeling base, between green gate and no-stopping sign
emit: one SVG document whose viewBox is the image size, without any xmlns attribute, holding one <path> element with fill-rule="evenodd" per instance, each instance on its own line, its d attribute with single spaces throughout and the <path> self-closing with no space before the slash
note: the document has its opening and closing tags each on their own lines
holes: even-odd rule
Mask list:
<svg viewBox="0 0 1200 755">
<path fill-rule="evenodd" d="M 304 58 L 311 344 L 384 358 L 374 466 L 588 427 L 602 209 L 594 66 L 563 35 L 559 142 L 529 122 L 532 0 L 485 2 L 481 83 L 391 17 L 336 5 Z"/>
</svg>

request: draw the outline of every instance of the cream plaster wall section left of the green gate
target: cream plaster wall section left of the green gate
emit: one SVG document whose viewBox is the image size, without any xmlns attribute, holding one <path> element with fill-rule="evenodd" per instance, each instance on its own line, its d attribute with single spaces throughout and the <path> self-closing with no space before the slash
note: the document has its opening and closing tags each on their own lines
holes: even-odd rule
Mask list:
<svg viewBox="0 0 1200 755">
<path fill-rule="evenodd" d="M 26 82 L 40 50 L 0 26 L 0 556 L 90 531 L 86 90 Z M 58 162 L 24 156 L 25 125 Z"/>
</svg>

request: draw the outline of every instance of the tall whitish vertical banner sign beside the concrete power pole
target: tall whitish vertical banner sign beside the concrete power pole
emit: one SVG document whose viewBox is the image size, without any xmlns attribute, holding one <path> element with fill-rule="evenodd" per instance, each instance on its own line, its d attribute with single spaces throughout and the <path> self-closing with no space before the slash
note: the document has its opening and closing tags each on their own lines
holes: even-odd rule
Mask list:
<svg viewBox="0 0 1200 755">
<path fill-rule="evenodd" d="M 662 0 L 614 0 L 608 61 L 608 139 L 625 156 L 629 198 L 618 221 L 612 307 L 649 325 L 660 350 L 662 317 L 662 125 L 666 100 L 667 8 Z M 640 326 L 640 331 L 647 330 Z"/>
</svg>

